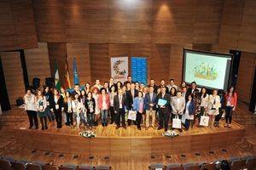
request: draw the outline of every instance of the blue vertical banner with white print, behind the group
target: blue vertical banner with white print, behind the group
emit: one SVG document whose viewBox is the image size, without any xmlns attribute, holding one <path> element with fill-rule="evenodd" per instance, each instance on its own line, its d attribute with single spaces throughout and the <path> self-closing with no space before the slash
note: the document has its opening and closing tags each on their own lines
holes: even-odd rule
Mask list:
<svg viewBox="0 0 256 170">
<path fill-rule="evenodd" d="M 147 84 L 148 63 L 145 57 L 131 57 L 131 77 L 135 82 Z"/>
</svg>

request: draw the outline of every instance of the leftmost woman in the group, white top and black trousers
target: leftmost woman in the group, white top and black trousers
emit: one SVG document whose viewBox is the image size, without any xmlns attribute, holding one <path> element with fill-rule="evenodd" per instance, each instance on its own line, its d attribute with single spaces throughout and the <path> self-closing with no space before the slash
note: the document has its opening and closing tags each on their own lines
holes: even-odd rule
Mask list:
<svg viewBox="0 0 256 170">
<path fill-rule="evenodd" d="M 29 119 L 29 128 L 32 128 L 33 125 L 35 125 L 36 129 L 38 129 L 36 97 L 34 94 L 32 94 L 31 89 L 26 90 L 26 94 L 24 95 L 24 102 L 25 111 Z"/>
</svg>

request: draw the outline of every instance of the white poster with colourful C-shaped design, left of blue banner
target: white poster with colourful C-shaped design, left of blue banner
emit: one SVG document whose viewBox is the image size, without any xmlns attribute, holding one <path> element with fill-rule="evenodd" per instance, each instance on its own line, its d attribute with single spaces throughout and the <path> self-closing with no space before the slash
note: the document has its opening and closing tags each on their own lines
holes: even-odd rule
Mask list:
<svg viewBox="0 0 256 170">
<path fill-rule="evenodd" d="M 115 82 L 125 82 L 128 76 L 128 57 L 111 58 L 111 77 Z"/>
</svg>

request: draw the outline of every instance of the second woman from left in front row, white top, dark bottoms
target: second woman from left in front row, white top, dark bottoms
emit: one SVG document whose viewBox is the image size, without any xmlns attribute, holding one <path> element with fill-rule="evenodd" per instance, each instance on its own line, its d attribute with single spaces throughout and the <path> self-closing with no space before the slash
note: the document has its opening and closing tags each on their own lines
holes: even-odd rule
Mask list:
<svg viewBox="0 0 256 170">
<path fill-rule="evenodd" d="M 36 97 L 38 116 L 40 118 L 40 122 L 42 125 L 42 130 L 48 129 L 47 127 L 47 112 L 45 111 L 47 107 L 46 97 L 43 95 L 41 90 L 38 90 L 38 94 Z"/>
</svg>

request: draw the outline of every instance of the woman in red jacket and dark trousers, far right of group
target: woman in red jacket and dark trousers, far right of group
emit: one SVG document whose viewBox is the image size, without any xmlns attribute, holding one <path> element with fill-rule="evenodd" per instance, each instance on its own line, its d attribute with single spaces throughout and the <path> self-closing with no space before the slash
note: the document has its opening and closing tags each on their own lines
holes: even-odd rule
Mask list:
<svg viewBox="0 0 256 170">
<path fill-rule="evenodd" d="M 225 120 L 226 124 L 224 127 L 231 127 L 231 121 L 232 121 L 232 112 L 236 110 L 236 104 L 237 104 L 237 94 L 235 92 L 234 87 L 230 87 L 228 92 L 225 94 L 225 106 L 226 106 L 226 114 L 225 114 Z"/>
</svg>

